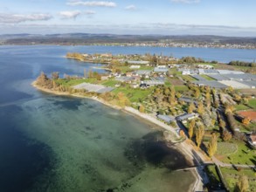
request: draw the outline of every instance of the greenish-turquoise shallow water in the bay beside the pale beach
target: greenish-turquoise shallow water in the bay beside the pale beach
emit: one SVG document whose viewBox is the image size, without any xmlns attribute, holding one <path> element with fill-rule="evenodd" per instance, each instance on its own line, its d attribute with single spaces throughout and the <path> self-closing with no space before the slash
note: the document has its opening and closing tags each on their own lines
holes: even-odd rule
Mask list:
<svg viewBox="0 0 256 192">
<path fill-rule="evenodd" d="M 156 181 L 159 191 L 186 191 L 195 180 L 191 173 L 171 172 L 187 166 L 183 155 L 156 141 L 156 127 L 127 113 L 51 95 L 21 108 L 15 121 L 24 135 L 51 148 L 52 167 L 38 175 L 32 191 L 156 191 Z"/>
</svg>

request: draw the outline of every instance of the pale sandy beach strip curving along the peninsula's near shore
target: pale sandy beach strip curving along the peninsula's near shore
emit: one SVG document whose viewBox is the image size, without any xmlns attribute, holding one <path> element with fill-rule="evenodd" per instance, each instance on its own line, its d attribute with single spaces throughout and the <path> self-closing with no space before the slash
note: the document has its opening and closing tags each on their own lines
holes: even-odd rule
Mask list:
<svg viewBox="0 0 256 192">
<path fill-rule="evenodd" d="M 55 94 L 55 95 L 59 95 L 59 96 L 72 96 L 72 97 L 76 97 L 76 98 L 93 99 L 95 101 L 100 102 L 101 104 L 103 104 L 105 106 L 109 106 L 116 110 L 120 110 L 122 112 L 133 115 L 136 119 L 143 120 L 144 123 L 155 125 L 156 127 L 163 129 L 163 131 L 165 130 L 165 131 L 170 132 L 171 133 L 170 137 L 168 139 L 165 138 L 165 140 L 167 142 L 171 141 L 172 143 L 176 144 L 175 145 L 176 150 L 178 150 L 181 154 L 183 154 L 187 161 L 193 162 L 195 165 L 199 164 L 201 161 L 206 161 L 204 154 L 201 154 L 198 151 L 195 151 L 193 146 L 191 146 L 191 144 L 188 143 L 186 140 L 182 141 L 182 142 L 175 141 L 175 139 L 180 139 L 180 136 L 176 133 L 176 130 L 174 127 L 168 126 L 167 124 L 163 123 L 162 121 L 157 120 L 156 117 L 153 117 L 152 115 L 149 115 L 147 113 L 140 113 L 138 110 L 136 110 L 135 108 L 133 108 L 131 106 L 125 106 L 124 108 L 121 108 L 121 106 L 114 106 L 114 105 L 111 105 L 111 104 L 107 103 L 106 101 L 99 99 L 98 97 L 95 97 L 95 96 L 86 97 L 84 95 L 80 95 L 79 93 L 71 94 L 71 93 L 63 93 L 63 92 L 49 90 L 47 88 L 37 86 L 36 81 L 33 81 L 31 86 L 35 87 L 39 91 L 42 91 L 45 93 L 51 93 L 51 94 Z M 176 137 L 176 138 L 174 138 L 174 137 Z M 192 171 L 192 173 L 195 176 L 196 182 L 194 184 L 193 183 L 191 184 L 191 186 L 192 186 L 191 189 L 193 189 L 193 190 L 201 189 L 202 186 L 204 186 L 204 183 L 201 179 L 201 175 L 199 175 L 199 173 L 197 173 L 197 171 Z"/>
</svg>

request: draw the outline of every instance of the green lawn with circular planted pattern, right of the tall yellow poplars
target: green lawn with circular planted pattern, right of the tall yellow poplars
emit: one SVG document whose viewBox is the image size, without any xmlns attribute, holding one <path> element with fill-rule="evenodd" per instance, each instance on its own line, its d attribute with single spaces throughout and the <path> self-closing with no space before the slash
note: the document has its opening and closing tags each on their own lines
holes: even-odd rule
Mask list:
<svg viewBox="0 0 256 192">
<path fill-rule="evenodd" d="M 225 145 L 225 143 L 227 144 Z M 218 147 L 216 156 L 220 161 L 232 164 L 256 164 L 256 150 L 247 147 L 246 142 L 232 140 L 231 144 L 225 143 Z M 234 145 L 237 146 L 237 151 L 234 151 Z"/>
</svg>

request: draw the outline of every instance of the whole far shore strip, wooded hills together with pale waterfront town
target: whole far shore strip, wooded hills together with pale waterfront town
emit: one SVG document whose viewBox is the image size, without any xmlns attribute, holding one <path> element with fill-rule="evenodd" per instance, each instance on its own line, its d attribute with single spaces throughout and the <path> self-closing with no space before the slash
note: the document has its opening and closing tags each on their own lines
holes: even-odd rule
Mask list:
<svg viewBox="0 0 256 192">
<path fill-rule="evenodd" d="M 154 36 L 114 34 L 0 35 L 0 45 L 107 45 L 256 49 L 255 38 L 221 36 Z"/>
</svg>

